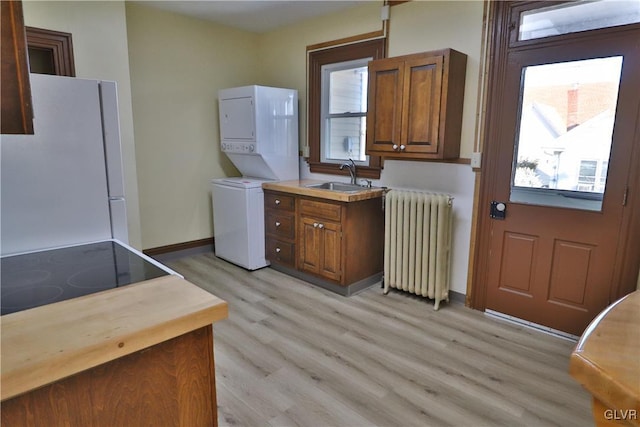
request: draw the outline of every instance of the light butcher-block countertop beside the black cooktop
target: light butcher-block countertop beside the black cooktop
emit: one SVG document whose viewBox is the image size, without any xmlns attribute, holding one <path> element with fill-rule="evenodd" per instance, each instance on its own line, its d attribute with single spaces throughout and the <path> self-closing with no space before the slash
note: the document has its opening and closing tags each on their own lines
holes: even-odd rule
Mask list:
<svg viewBox="0 0 640 427">
<path fill-rule="evenodd" d="M 0 317 L 0 400 L 210 325 L 227 303 L 164 276 Z"/>
</svg>

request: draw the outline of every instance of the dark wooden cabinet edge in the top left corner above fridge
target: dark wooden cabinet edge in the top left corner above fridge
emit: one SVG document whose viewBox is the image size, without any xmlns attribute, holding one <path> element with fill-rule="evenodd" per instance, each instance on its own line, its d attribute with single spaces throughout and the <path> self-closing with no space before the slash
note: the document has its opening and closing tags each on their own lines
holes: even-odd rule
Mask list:
<svg viewBox="0 0 640 427">
<path fill-rule="evenodd" d="M 0 133 L 33 134 L 33 105 L 22 2 L 0 1 L 2 114 Z"/>
</svg>

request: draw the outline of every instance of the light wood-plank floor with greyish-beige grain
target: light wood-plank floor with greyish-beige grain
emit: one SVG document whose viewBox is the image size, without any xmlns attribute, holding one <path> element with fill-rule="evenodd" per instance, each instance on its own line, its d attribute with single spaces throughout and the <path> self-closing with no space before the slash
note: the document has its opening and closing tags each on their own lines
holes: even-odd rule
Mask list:
<svg viewBox="0 0 640 427">
<path fill-rule="evenodd" d="M 342 297 L 213 254 L 168 263 L 225 299 L 220 426 L 593 425 L 574 343 L 378 286 Z"/>
</svg>

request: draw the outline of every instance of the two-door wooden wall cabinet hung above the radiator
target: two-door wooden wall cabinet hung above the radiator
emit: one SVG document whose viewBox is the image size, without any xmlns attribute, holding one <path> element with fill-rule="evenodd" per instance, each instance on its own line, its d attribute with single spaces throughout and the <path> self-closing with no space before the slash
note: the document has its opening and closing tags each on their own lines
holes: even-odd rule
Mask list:
<svg viewBox="0 0 640 427">
<path fill-rule="evenodd" d="M 369 62 L 367 154 L 458 158 L 466 67 L 453 49 Z"/>
</svg>

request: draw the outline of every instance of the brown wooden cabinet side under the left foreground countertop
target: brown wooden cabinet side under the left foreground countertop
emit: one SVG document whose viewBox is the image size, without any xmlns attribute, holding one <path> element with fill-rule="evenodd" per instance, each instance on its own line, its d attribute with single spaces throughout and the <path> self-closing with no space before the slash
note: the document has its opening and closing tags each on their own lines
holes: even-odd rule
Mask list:
<svg viewBox="0 0 640 427">
<path fill-rule="evenodd" d="M 216 426 L 211 325 L 2 402 L 3 426 Z"/>
</svg>

